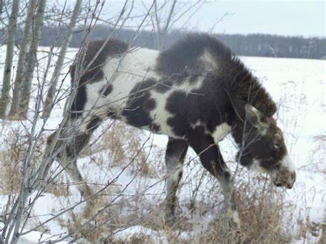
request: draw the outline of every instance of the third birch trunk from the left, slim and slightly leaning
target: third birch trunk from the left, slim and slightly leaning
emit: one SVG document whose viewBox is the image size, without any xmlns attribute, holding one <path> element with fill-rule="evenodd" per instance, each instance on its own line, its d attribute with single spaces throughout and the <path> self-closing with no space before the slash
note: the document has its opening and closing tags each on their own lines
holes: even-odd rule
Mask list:
<svg viewBox="0 0 326 244">
<path fill-rule="evenodd" d="M 25 80 L 22 82 L 21 101 L 19 102 L 19 117 L 26 118 L 28 104 L 30 103 L 30 92 L 32 87 L 33 73 L 37 61 L 37 49 L 39 47 L 39 38 L 43 27 L 46 0 L 39 0 L 35 15 L 34 32 L 32 32 L 32 42 L 26 56 Z"/>
</svg>

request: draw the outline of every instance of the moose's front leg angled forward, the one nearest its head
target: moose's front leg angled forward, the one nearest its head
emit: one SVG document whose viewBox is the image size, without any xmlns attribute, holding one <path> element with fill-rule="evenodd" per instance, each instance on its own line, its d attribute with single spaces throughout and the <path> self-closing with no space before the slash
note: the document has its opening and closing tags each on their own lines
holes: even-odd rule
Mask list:
<svg viewBox="0 0 326 244">
<path fill-rule="evenodd" d="M 199 155 L 202 165 L 210 174 L 214 175 L 224 192 L 225 210 L 227 216 L 231 219 L 237 228 L 240 228 L 239 214 L 235 203 L 235 189 L 232 182 L 232 175 L 228 166 L 219 151 L 219 147 L 215 144 L 211 135 L 204 132 L 204 128 L 194 129 L 188 142 L 194 151 Z"/>
</svg>

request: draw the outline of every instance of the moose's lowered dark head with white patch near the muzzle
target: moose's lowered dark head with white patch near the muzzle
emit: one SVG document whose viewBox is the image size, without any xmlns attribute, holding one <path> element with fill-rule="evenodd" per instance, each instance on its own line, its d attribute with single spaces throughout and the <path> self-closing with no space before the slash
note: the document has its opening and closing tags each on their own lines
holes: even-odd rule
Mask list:
<svg viewBox="0 0 326 244">
<path fill-rule="evenodd" d="M 285 146 L 283 133 L 274 118 L 266 117 L 250 104 L 245 105 L 240 163 L 250 170 L 268 173 L 275 186 L 292 188 L 296 181 L 294 164 Z"/>
</svg>

